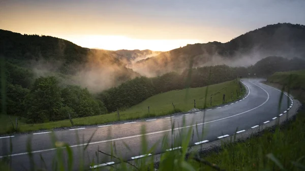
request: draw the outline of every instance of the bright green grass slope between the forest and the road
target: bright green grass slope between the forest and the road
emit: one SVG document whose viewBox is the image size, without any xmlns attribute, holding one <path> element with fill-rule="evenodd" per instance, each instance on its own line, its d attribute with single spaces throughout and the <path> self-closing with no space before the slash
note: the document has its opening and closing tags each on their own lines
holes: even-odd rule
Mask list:
<svg viewBox="0 0 305 171">
<path fill-rule="evenodd" d="M 206 89 L 208 89 L 207 95 L 205 95 Z M 205 96 L 207 97 L 206 107 L 216 106 L 223 103 L 223 94 L 226 95 L 225 103 L 238 99 L 239 97 L 237 97 L 236 90 L 239 96 L 242 96 L 242 93 L 245 93 L 245 88 L 240 89 L 238 80 L 214 84 L 209 86 L 208 88 L 201 87 L 184 90 L 174 90 L 152 96 L 141 102 L 140 104 L 132 106 L 131 108 L 125 111 L 120 111 L 119 116 L 120 120 L 132 120 L 147 117 L 164 116 L 180 111 L 188 111 L 194 107 L 194 100 L 196 100 L 196 108 L 204 108 Z M 232 97 L 231 93 L 233 95 Z M 210 97 L 212 97 L 212 105 L 210 105 Z M 175 105 L 175 110 L 173 108 L 172 103 Z M 7 116 L 2 117 L 5 118 L 6 121 L 9 121 Z M 115 121 L 118 121 L 117 112 L 112 112 L 100 116 L 73 119 L 74 126 L 105 124 Z M 27 132 L 60 127 L 71 127 L 70 120 L 42 124 L 24 124 L 21 122 L 19 124 L 18 131 Z M 0 133 L 2 134 L 8 133 L 11 130 L 12 126 L 10 122 L 6 122 L 6 124 L 0 125 Z"/>
</svg>

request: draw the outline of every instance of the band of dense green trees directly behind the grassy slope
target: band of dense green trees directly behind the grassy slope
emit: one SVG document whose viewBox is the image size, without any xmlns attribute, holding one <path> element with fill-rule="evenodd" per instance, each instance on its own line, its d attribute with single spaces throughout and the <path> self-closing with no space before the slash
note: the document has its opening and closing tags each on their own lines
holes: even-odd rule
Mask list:
<svg viewBox="0 0 305 171">
<path fill-rule="evenodd" d="M 3 59 L 2 59 L 3 60 Z M 150 96 L 171 90 L 203 87 L 237 77 L 265 77 L 277 71 L 305 68 L 301 59 L 269 56 L 250 67 L 226 65 L 186 69 L 157 77 L 136 77 L 120 86 L 92 94 L 87 88 L 63 83 L 55 76 L 35 77 L 32 70 L 1 62 L 1 111 L 42 123 L 124 110 Z"/>
</svg>

